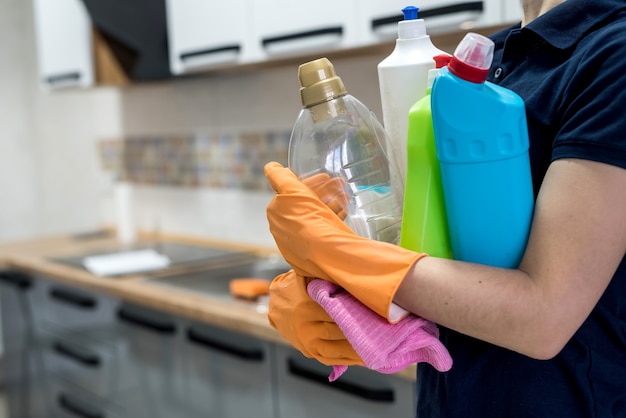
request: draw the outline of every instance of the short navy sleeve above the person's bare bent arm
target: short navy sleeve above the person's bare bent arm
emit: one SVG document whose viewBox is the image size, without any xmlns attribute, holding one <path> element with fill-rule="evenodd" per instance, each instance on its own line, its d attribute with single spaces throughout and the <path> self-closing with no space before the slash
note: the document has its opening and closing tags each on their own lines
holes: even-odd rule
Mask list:
<svg viewBox="0 0 626 418">
<path fill-rule="evenodd" d="M 582 158 L 626 168 L 626 21 L 599 29 L 563 91 L 552 160 Z"/>
</svg>

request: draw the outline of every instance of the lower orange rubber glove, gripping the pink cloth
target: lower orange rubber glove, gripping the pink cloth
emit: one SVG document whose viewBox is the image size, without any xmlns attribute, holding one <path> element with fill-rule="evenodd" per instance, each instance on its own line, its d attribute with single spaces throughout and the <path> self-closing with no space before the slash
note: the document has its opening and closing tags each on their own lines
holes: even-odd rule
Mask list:
<svg viewBox="0 0 626 418">
<path fill-rule="evenodd" d="M 364 365 L 335 321 L 311 299 L 307 284 L 293 270 L 272 281 L 267 314 L 270 325 L 302 354 L 322 364 Z"/>
</svg>

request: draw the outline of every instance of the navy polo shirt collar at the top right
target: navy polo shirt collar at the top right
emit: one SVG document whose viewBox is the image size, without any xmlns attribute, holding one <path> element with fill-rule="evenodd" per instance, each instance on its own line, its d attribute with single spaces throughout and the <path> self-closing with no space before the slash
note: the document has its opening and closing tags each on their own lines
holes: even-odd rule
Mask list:
<svg viewBox="0 0 626 418">
<path fill-rule="evenodd" d="M 529 30 L 559 49 L 578 43 L 593 27 L 619 10 L 623 0 L 566 0 L 526 25 Z"/>
</svg>

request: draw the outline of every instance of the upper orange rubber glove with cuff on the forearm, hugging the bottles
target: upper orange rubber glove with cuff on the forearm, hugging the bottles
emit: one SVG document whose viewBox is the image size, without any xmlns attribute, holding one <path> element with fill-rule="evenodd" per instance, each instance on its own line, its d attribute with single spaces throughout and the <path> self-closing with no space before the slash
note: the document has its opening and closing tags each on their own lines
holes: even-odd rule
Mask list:
<svg viewBox="0 0 626 418">
<path fill-rule="evenodd" d="M 356 235 L 313 190 L 278 163 L 266 164 L 265 176 L 276 191 L 267 207 L 270 231 L 294 271 L 333 282 L 389 322 L 399 321 L 404 312 L 391 312 L 393 296 L 425 254 Z"/>
</svg>

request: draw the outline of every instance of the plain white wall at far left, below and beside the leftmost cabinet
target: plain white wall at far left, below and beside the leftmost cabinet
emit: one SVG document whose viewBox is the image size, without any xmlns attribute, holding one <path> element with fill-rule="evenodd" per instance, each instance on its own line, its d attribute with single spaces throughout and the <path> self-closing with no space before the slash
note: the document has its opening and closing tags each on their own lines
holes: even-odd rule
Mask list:
<svg viewBox="0 0 626 418">
<path fill-rule="evenodd" d="M 121 134 L 117 90 L 46 94 L 36 65 L 31 1 L 0 0 L 0 241 L 99 227 L 96 143 Z"/>
</svg>

